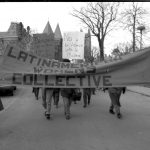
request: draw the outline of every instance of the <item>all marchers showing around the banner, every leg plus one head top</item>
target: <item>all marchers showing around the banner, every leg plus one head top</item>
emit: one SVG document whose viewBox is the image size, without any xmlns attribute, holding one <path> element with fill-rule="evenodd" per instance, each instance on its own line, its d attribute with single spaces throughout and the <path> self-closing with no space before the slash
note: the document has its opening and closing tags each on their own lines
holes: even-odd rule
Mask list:
<svg viewBox="0 0 150 150">
<path fill-rule="evenodd" d="M 68 59 L 64 59 L 63 62 L 70 62 Z M 76 99 L 73 99 L 73 96 L 76 94 L 76 91 L 78 89 L 73 88 L 42 88 L 42 100 L 43 100 L 43 107 L 45 108 L 45 117 L 47 119 L 51 118 L 51 104 L 52 99 L 54 100 L 54 105 L 56 105 L 56 108 L 58 108 L 58 102 L 59 102 L 59 93 L 62 96 L 63 103 L 64 103 L 64 115 L 67 120 L 70 119 L 70 106 L 72 101 L 76 103 Z M 111 87 L 111 88 L 104 88 L 103 91 L 108 90 L 110 99 L 111 99 L 111 105 L 109 108 L 109 112 L 111 114 L 116 114 L 118 118 L 121 118 L 121 112 L 120 112 L 120 96 L 121 93 L 125 93 L 126 88 L 125 87 Z M 39 88 L 34 87 L 33 91 L 35 94 L 36 99 L 38 100 L 38 94 L 39 94 Z M 81 97 L 81 92 L 80 97 Z M 87 107 L 87 105 L 90 104 L 91 101 L 91 95 L 95 94 L 95 88 L 83 88 L 83 107 Z"/>
</svg>

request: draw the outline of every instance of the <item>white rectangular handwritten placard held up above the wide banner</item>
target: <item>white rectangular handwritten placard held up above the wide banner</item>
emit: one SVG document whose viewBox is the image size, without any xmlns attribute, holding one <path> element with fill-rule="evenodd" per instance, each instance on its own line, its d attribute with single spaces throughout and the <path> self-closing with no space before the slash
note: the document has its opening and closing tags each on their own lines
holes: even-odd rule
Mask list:
<svg viewBox="0 0 150 150">
<path fill-rule="evenodd" d="M 64 33 L 63 58 L 84 59 L 84 38 L 83 32 Z"/>
</svg>

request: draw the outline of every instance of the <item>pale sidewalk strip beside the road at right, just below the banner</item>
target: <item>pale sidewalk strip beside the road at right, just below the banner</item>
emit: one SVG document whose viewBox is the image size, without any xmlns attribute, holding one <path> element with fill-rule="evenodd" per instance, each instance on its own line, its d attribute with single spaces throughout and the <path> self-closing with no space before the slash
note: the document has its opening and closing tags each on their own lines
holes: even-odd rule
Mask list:
<svg viewBox="0 0 150 150">
<path fill-rule="evenodd" d="M 143 86 L 128 86 L 127 90 L 150 97 L 150 88 Z"/>
</svg>

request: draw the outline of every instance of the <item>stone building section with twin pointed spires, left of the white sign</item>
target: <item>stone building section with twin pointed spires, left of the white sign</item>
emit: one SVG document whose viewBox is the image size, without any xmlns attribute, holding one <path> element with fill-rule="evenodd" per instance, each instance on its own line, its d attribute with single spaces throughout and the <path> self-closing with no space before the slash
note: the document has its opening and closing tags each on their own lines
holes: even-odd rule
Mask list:
<svg viewBox="0 0 150 150">
<path fill-rule="evenodd" d="M 59 24 L 56 27 L 55 33 L 47 22 L 43 33 L 33 34 L 32 52 L 49 59 L 62 60 L 62 36 Z"/>
</svg>

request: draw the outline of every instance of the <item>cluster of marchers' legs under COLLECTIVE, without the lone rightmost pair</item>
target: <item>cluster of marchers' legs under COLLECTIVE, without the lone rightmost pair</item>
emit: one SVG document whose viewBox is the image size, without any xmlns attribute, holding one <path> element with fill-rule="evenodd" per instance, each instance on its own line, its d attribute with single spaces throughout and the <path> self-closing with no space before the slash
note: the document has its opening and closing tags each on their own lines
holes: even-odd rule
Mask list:
<svg viewBox="0 0 150 150">
<path fill-rule="evenodd" d="M 81 99 L 82 93 L 80 89 L 73 89 L 73 88 L 41 88 L 42 90 L 42 105 L 45 108 L 45 117 L 47 119 L 51 118 L 51 107 L 52 107 L 52 100 L 54 101 L 53 104 L 58 108 L 59 103 L 59 93 L 62 96 L 63 103 L 64 103 L 64 115 L 67 120 L 70 119 L 70 106 L 71 103 L 74 102 L 76 104 L 76 97 L 75 94 L 79 94 L 78 100 Z M 76 92 L 78 91 L 78 92 Z M 35 94 L 35 98 L 38 100 L 39 95 L 39 88 L 34 87 L 33 91 Z M 91 101 L 91 95 L 93 93 L 93 89 L 85 88 L 83 89 L 83 107 L 87 107 Z M 75 97 L 74 97 L 75 96 Z"/>
</svg>

